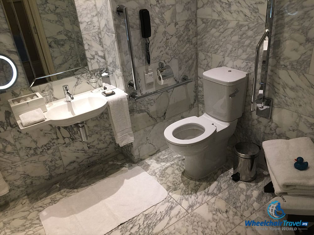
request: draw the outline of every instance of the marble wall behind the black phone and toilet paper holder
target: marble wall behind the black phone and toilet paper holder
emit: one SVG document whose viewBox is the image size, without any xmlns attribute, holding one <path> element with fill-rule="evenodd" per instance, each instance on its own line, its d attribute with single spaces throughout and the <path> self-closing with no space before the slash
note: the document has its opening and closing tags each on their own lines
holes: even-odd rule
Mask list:
<svg viewBox="0 0 314 235">
<path fill-rule="evenodd" d="M 133 91 L 127 88 L 127 82 L 133 78 L 125 25 L 123 18 L 116 14 L 116 6 L 119 4 L 128 8 L 138 95 L 180 82 L 183 75 L 194 80 L 187 86 L 180 86 L 141 101 L 129 102 L 135 141 L 123 148 L 123 152 L 136 162 L 167 147 L 163 132 L 168 125 L 197 115 L 197 1 L 111 0 L 116 33 L 112 40 L 117 41 L 117 49 L 111 47 L 116 51 L 116 57 L 111 60 L 112 65 L 108 60 L 108 66 L 122 68 L 125 91 L 130 94 Z M 150 65 L 146 62 L 145 39 L 142 38 L 140 30 L 139 10 L 143 8 L 149 10 L 151 20 Z M 105 36 L 108 38 L 108 35 Z M 119 64 L 116 60 L 118 57 Z M 156 82 L 159 62 L 170 65 L 174 71 L 174 79 L 166 85 Z M 152 69 L 154 73 L 154 82 L 150 84 L 146 84 L 144 80 L 144 71 L 148 69 Z"/>
</svg>

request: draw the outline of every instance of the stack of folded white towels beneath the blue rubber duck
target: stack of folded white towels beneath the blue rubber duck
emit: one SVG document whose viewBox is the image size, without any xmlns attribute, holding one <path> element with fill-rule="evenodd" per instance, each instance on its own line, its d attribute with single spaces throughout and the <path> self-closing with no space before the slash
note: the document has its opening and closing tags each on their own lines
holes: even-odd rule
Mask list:
<svg viewBox="0 0 314 235">
<path fill-rule="evenodd" d="M 276 195 L 314 196 L 314 144 L 308 137 L 263 142 L 270 177 Z M 297 157 L 309 163 L 306 170 L 297 170 Z"/>
</svg>

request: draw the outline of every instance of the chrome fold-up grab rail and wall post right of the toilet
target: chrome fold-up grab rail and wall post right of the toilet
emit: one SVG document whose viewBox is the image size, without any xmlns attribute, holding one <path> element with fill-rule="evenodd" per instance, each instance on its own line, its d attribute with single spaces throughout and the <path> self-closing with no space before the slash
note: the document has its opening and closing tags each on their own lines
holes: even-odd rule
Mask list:
<svg viewBox="0 0 314 235">
<path fill-rule="evenodd" d="M 251 111 L 254 111 L 255 104 L 257 104 L 256 115 L 263 118 L 267 118 L 267 119 L 271 118 L 272 104 L 273 104 L 273 99 L 265 97 L 265 92 L 266 92 L 266 84 L 267 84 L 270 43 L 271 43 L 272 29 L 273 29 L 274 7 L 275 7 L 275 0 L 268 0 L 266 21 L 265 21 L 265 32 L 262 38 L 259 40 L 256 46 L 256 50 L 255 50 L 255 67 L 254 67 L 254 78 L 253 78 L 252 99 L 251 99 Z M 263 57 L 262 57 L 262 66 L 261 66 L 261 80 L 259 83 L 258 96 L 257 96 L 257 99 L 255 99 L 259 50 L 262 44 L 263 44 Z"/>
</svg>

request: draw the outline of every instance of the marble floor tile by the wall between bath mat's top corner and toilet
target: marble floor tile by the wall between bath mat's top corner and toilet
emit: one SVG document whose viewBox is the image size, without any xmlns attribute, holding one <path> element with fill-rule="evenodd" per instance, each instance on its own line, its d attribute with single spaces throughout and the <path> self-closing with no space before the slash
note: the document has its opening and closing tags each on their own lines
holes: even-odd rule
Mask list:
<svg viewBox="0 0 314 235">
<path fill-rule="evenodd" d="M 140 161 L 137 165 L 142 167 L 145 171 L 151 172 L 167 164 L 168 162 L 175 161 L 178 156 L 179 155 L 168 148 L 152 157 Z"/>
</svg>

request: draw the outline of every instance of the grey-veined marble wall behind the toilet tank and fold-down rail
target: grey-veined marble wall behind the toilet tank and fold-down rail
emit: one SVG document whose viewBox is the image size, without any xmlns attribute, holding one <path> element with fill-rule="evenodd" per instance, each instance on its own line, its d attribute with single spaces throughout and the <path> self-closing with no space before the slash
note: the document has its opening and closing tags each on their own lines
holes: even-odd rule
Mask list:
<svg viewBox="0 0 314 235">
<path fill-rule="evenodd" d="M 263 35 L 267 1 L 198 0 L 198 107 L 204 111 L 203 71 L 219 66 L 249 73 L 239 141 L 261 144 L 275 138 L 313 138 L 314 1 L 276 1 L 267 96 L 271 120 L 250 111 L 254 55 Z"/>
</svg>

